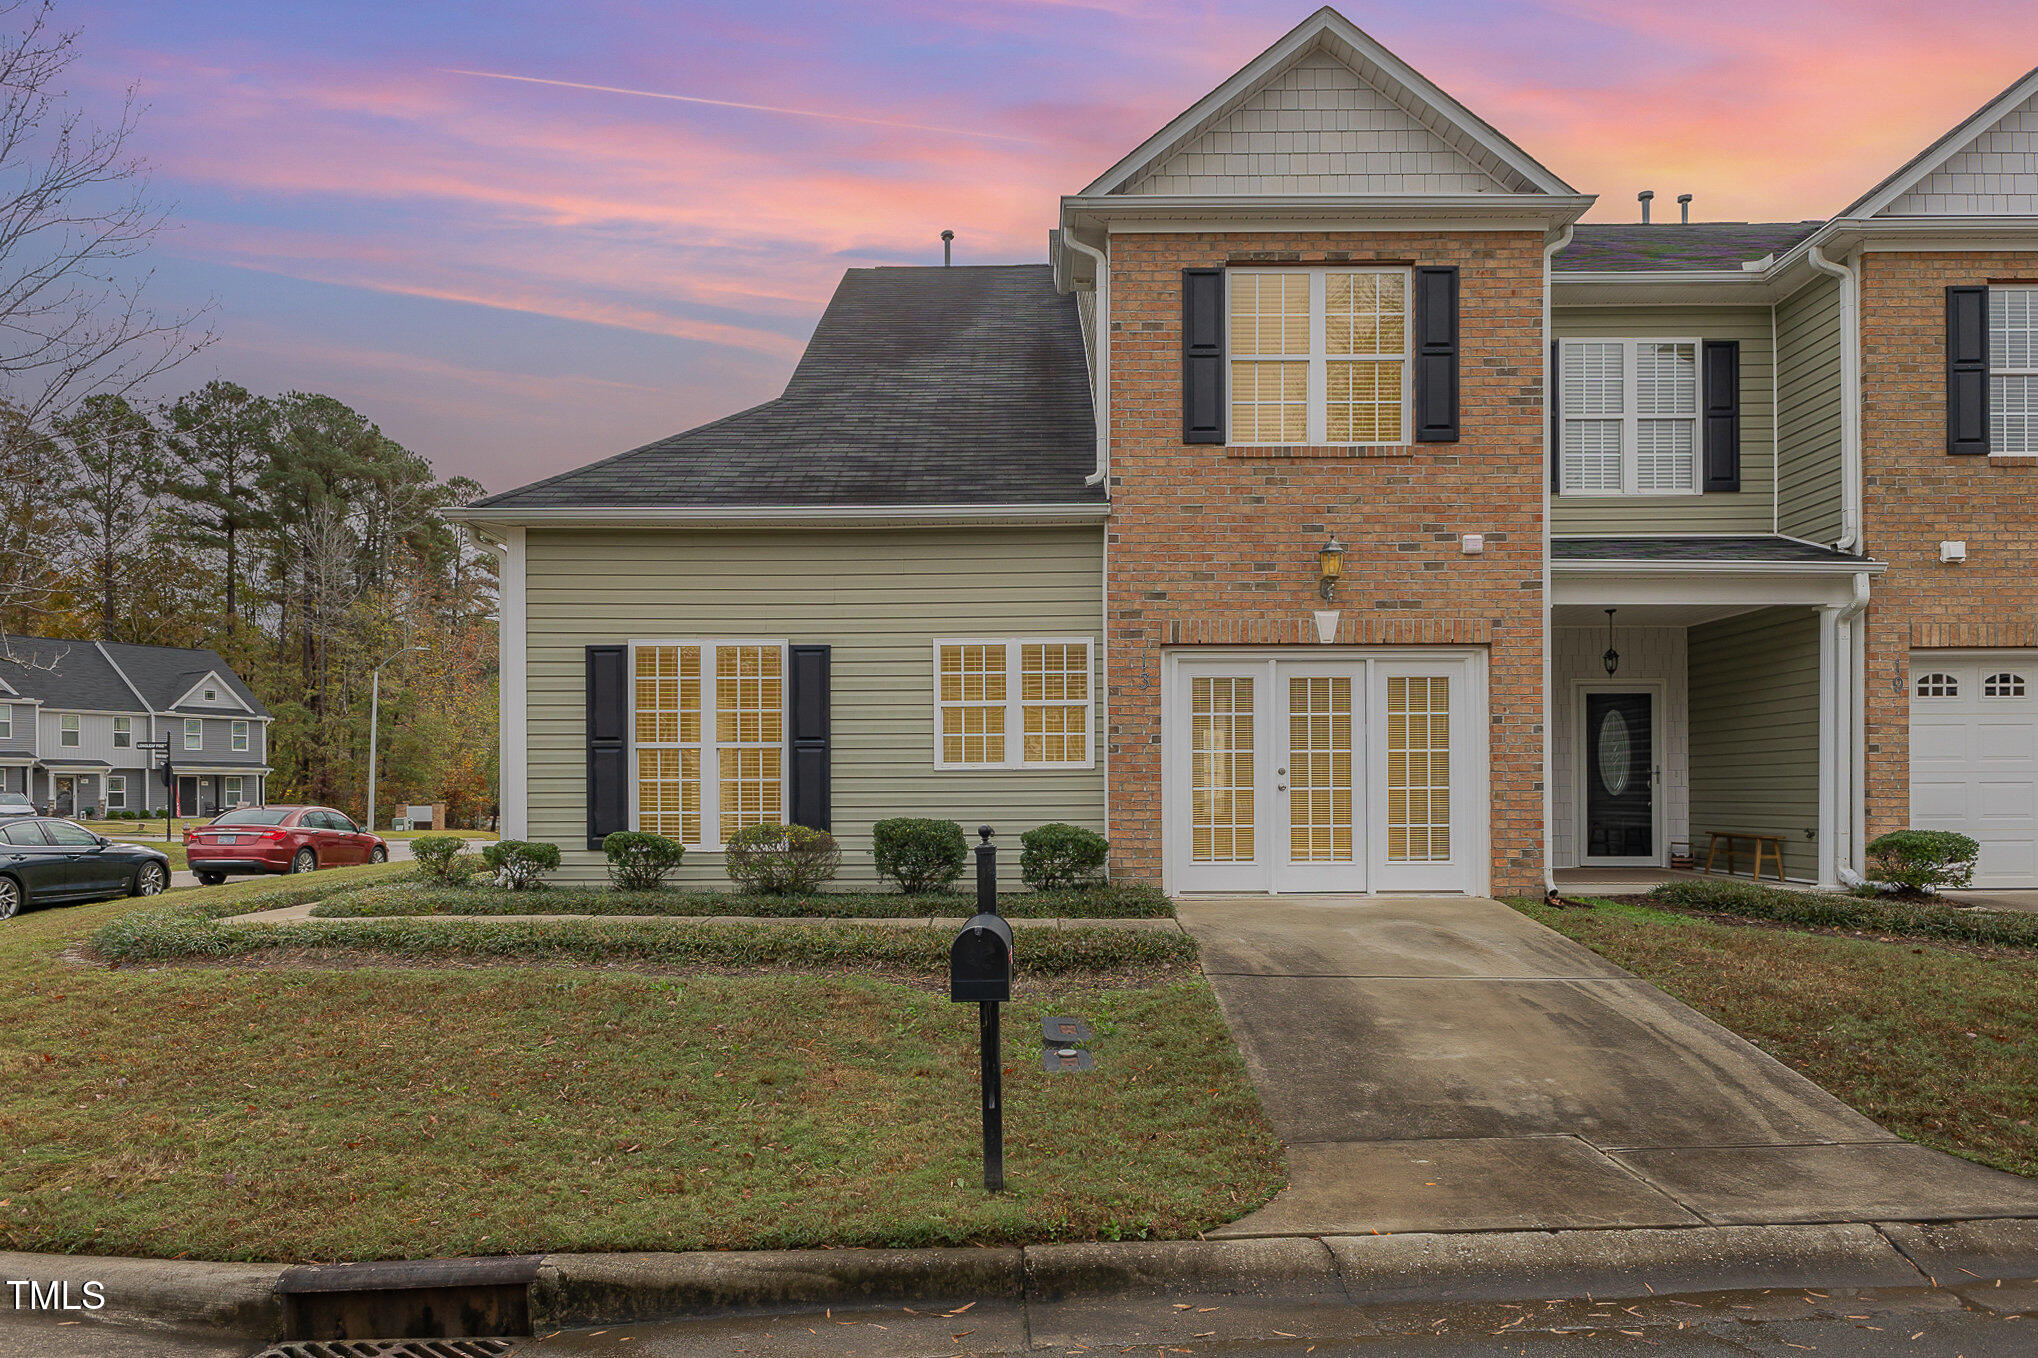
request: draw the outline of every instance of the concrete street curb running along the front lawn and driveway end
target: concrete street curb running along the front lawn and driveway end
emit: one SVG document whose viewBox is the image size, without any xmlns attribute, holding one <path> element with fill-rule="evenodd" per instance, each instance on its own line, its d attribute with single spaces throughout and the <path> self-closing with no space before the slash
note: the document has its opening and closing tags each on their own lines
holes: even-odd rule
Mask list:
<svg viewBox="0 0 2038 1358">
<path fill-rule="evenodd" d="M 0 1254 L 0 1283 L 86 1278 L 106 1307 L 77 1319 L 143 1331 L 281 1338 L 285 1291 L 501 1285 L 532 1270 L 534 1327 L 620 1325 L 734 1311 L 891 1301 L 1109 1301 L 1278 1295 L 1325 1303 L 1634 1299 L 1759 1289 L 1963 1287 L 2038 1278 L 2038 1219 L 1268 1236 L 944 1250 L 701 1250 L 448 1258 L 287 1268 Z M 412 1283 L 422 1285 L 422 1283 Z M 4 1295 L 4 1293 L 0 1293 Z"/>
</svg>

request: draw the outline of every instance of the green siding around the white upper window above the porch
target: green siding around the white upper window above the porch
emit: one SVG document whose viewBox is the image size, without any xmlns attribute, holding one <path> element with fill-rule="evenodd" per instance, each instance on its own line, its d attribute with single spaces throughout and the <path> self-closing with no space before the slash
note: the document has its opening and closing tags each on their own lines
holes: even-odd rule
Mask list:
<svg viewBox="0 0 2038 1358">
<path fill-rule="evenodd" d="M 1712 495 L 1557 495 L 1551 532 L 1773 532 L 1775 341 L 1767 306 L 1563 306 L 1557 338 L 1740 341 L 1740 489 Z"/>
</svg>

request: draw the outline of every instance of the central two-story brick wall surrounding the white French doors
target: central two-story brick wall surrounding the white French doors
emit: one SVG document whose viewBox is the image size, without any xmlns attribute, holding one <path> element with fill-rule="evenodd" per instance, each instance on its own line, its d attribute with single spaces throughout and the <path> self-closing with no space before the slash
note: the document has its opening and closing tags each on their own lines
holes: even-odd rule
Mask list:
<svg viewBox="0 0 2038 1358">
<path fill-rule="evenodd" d="M 1459 267 L 1461 442 L 1390 455 L 1182 442 L 1182 269 Z M 1162 877 L 1164 646 L 1315 636 L 1317 546 L 1345 544 L 1339 640 L 1486 644 L 1492 887 L 1543 881 L 1541 232 L 1184 232 L 1111 241 L 1105 616 L 1113 871 Z M 1484 532 L 1486 553 L 1459 553 Z"/>
</svg>

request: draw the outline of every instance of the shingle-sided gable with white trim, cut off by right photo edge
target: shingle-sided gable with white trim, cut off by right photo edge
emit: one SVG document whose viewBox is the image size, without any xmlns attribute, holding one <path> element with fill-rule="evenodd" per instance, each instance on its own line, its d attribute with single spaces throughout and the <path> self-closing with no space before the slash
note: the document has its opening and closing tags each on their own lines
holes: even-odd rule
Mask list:
<svg viewBox="0 0 2038 1358">
<path fill-rule="evenodd" d="M 2022 157 L 2007 173 L 2022 179 L 1995 186 L 1993 155 Z M 2030 157 L 2038 155 L 2038 69 L 2026 71 L 2007 90 L 1969 118 L 1903 161 L 1887 179 L 1846 206 L 1840 216 L 1963 216 L 1975 198 L 1997 200 L 1979 208 L 1987 214 L 2038 216 L 2038 192 L 2030 188 Z"/>
</svg>

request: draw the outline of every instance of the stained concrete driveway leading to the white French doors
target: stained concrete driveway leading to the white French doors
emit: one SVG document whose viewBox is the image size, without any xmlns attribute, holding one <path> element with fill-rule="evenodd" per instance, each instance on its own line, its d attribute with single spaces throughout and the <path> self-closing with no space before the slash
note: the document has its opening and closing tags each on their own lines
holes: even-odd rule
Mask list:
<svg viewBox="0 0 2038 1358">
<path fill-rule="evenodd" d="M 1498 901 L 1176 909 L 1288 1146 L 1213 1236 L 2038 1217 Z"/>
</svg>

